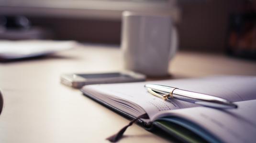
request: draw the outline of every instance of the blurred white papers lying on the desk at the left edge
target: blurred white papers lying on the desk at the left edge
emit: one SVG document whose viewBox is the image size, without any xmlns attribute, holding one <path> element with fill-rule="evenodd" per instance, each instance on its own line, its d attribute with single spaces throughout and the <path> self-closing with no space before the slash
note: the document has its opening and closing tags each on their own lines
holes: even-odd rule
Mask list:
<svg viewBox="0 0 256 143">
<path fill-rule="evenodd" d="M 74 48 L 75 41 L 0 40 L 0 59 L 12 60 L 42 56 Z"/>
</svg>

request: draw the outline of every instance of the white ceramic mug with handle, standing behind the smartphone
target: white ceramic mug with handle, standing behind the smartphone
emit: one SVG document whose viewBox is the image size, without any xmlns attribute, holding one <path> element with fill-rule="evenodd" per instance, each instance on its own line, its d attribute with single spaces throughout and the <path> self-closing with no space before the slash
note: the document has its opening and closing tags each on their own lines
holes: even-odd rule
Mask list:
<svg viewBox="0 0 256 143">
<path fill-rule="evenodd" d="M 178 47 L 178 36 L 169 15 L 122 13 L 124 68 L 147 76 L 168 75 L 170 59 Z"/>
</svg>

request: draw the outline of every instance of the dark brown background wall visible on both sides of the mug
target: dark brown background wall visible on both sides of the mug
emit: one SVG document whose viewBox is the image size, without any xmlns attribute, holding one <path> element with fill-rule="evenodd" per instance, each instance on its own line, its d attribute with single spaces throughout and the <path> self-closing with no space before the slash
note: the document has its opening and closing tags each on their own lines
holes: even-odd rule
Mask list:
<svg viewBox="0 0 256 143">
<path fill-rule="evenodd" d="M 180 49 L 223 51 L 230 13 L 244 0 L 178 0 Z M 56 39 L 120 44 L 121 20 L 29 17 L 34 25 L 52 29 Z"/>
</svg>

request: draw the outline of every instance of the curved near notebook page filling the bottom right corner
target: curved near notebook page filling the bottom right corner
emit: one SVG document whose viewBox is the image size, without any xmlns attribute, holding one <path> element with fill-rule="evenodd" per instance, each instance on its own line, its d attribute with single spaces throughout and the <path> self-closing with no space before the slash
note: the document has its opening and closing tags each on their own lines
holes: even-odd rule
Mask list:
<svg viewBox="0 0 256 143">
<path fill-rule="evenodd" d="M 238 104 L 238 109 L 217 110 L 207 107 L 194 107 L 162 112 L 159 115 L 168 114 L 169 116 L 188 119 L 197 123 L 224 143 L 255 143 L 256 100 L 236 102 L 236 104 Z"/>
</svg>

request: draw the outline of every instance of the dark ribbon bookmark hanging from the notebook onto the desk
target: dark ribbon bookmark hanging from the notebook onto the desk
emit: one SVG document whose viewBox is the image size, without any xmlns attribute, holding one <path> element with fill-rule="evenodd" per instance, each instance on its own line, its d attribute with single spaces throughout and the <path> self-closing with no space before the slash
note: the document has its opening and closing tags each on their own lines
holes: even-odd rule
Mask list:
<svg viewBox="0 0 256 143">
<path fill-rule="evenodd" d="M 132 120 L 128 125 L 124 126 L 118 133 L 111 135 L 106 140 L 109 140 L 112 143 L 117 142 L 122 138 L 122 135 L 125 132 L 125 130 L 139 119 L 149 119 L 149 117 L 146 113 L 138 116 L 136 119 Z"/>
</svg>

